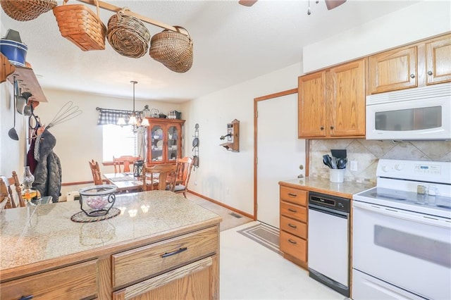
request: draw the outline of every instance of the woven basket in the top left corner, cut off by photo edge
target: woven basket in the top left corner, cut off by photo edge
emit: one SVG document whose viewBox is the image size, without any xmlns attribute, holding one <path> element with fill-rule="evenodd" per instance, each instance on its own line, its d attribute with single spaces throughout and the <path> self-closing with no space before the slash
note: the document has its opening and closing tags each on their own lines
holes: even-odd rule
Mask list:
<svg viewBox="0 0 451 300">
<path fill-rule="evenodd" d="M 55 0 L 1 0 L 1 8 L 14 20 L 33 20 L 54 8 Z"/>
</svg>

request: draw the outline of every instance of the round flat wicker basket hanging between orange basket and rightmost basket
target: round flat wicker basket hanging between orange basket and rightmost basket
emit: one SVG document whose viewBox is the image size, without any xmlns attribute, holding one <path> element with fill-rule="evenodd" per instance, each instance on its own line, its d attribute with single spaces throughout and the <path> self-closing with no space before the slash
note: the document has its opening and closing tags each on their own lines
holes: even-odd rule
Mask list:
<svg viewBox="0 0 451 300">
<path fill-rule="evenodd" d="M 111 15 L 106 38 L 118 54 L 139 58 L 149 49 L 150 32 L 138 18 L 125 14 L 127 10 Z"/>
</svg>

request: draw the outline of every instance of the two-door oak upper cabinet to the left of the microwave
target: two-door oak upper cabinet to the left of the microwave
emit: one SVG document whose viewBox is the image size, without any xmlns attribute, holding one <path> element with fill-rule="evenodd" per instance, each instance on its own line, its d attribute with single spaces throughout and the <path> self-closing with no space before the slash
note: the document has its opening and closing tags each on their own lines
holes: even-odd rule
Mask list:
<svg viewBox="0 0 451 300">
<path fill-rule="evenodd" d="M 364 137 L 366 58 L 299 77 L 299 138 Z"/>
</svg>

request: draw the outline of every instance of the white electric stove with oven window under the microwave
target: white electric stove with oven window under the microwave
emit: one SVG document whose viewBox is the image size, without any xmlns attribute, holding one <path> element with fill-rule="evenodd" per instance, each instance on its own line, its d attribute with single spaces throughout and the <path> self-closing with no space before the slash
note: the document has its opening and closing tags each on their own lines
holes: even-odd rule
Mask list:
<svg viewBox="0 0 451 300">
<path fill-rule="evenodd" d="M 381 159 L 353 195 L 352 299 L 451 299 L 451 162 Z"/>
</svg>

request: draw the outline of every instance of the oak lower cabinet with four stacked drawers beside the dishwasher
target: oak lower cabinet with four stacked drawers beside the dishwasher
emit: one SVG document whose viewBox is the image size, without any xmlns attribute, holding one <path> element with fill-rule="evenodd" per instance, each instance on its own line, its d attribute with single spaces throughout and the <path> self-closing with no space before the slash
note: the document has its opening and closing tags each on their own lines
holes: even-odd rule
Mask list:
<svg viewBox="0 0 451 300">
<path fill-rule="evenodd" d="M 280 183 L 280 251 L 307 269 L 307 195 L 303 189 Z"/>
</svg>

